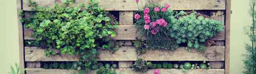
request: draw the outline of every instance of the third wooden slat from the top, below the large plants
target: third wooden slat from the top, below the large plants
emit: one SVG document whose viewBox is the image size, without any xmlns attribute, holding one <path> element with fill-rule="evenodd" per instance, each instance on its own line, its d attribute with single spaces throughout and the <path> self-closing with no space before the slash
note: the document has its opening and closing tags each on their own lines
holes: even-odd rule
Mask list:
<svg viewBox="0 0 256 74">
<path fill-rule="evenodd" d="M 100 50 L 99 61 L 135 61 L 137 57 L 149 61 L 224 61 L 225 46 L 209 46 L 205 52 L 197 49 L 188 51 L 186 47 L 179 47 L 175 51 L 171 50 L 147 50 L 145 54 L 136 55 L 135 48 L 132 46 L 122 46 L 115 53 L 107 50 Z M 59 51 L 57 51 L 59 52 Z M 46 57 L 44 49 L 38 47 L 25 47 L 25 61 L 77 61 L 79 56 L 56 55 Z"/>
</svg>

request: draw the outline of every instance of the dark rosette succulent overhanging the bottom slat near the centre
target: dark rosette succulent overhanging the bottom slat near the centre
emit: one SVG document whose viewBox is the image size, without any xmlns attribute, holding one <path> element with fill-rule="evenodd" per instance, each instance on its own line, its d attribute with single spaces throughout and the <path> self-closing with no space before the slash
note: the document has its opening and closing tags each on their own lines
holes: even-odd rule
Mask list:
<svg viewBox="0 0 256 74">
<path fill-rule="evenodd" d="M 132 65 L 132 69 L 136 72 L 146 72 L 148 70 L 146 62 L 142 59 L 137 59 L 136 62 Z"/>
</svg>

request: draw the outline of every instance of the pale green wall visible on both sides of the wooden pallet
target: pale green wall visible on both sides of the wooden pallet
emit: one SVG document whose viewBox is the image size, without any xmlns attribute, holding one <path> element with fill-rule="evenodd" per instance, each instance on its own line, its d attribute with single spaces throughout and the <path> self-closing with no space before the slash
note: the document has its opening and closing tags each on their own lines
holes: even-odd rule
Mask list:
<svg viewBox="0 0 256 74">
<path fill-rule="evenodd" d="M 0 74 L 7 74 L 9 66 L 19 62 L 16 0 L 0 3 Z M 242 74 L 244 43 L 249 42 L 243 27 L 250 25 L 249 0 L 232 0 L 230 74 Z"/>
</svg>

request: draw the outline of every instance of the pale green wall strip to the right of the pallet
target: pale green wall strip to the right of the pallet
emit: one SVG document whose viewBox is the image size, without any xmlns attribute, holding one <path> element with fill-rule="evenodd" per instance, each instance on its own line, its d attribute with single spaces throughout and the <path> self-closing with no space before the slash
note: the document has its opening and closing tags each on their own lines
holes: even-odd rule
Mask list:
<svg viewBox="0 0 256 74">
<path fill-rule="evenodd" d="M 244 43 L 249 39 L 244 35 L 244 26 L 251 24 L 249 0 L 231 0 L 230 74 L 242 74 Z"/>
</svg>

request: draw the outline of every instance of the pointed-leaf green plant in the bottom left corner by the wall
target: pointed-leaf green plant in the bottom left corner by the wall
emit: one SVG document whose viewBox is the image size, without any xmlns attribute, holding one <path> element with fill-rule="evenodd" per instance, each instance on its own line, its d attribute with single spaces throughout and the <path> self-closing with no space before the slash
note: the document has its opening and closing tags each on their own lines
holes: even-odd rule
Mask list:
<svg viewBox="0 0 256 74">
<path fill-rule="evenodd" d="M 20 69 L 19 65 L 17 65 L 17 63 L 15 63 L 15 66 L 11 66 L 10 70 L 11 70 L 11 72 L 9 72 L 10 74 L 23 74 L 23 72 L 26 71 L 26 68 L 22 70 L 22 69 Z"/>
</svg>

